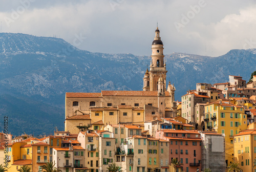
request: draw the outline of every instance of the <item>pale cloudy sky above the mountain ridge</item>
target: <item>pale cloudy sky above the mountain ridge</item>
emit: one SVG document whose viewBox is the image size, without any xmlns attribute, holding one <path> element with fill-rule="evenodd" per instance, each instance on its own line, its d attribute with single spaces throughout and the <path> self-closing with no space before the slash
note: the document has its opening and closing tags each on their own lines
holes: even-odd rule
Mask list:
<svg viewBox="0 0 256 172">
<path fill-rule="evenodd" d="M 114 54 L 151 55 L 157 23 L 164 54 L 215 57 L 256 48 L 255 16 L 255 0 L 0 2 L 1 32 L 55 36 L 81 50 Z"/>
</svg>

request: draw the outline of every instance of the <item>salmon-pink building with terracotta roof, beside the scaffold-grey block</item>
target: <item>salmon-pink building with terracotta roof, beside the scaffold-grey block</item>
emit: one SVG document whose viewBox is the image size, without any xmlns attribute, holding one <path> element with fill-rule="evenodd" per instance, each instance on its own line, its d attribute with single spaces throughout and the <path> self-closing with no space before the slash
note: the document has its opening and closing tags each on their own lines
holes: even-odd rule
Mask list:
<svg viewBox="0 0 256 172">
<path fill-rule="evenodd" d="M 156 137 L 169 141 L 169 162 L 181 161 L 182 171 L 201 171 L 201 135 L 197 131 L 163 129 Z"/>
</svg>

